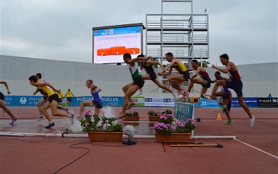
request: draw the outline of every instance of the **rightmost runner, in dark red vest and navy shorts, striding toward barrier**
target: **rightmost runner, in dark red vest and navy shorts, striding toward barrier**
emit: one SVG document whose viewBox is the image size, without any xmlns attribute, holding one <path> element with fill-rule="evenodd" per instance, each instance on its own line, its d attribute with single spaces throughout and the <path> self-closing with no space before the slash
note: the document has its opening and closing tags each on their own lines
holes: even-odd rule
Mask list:
<svg viewBox="0 0 278 174">
<path fill-rule="evenodd" d="M 243 102 L 243 82 L 240 79 L 240 74 L 238 73 L 238 68 L 233 62 L 229 61 L 229 56 L 227 54 L 222 54 L 220 56 L 220 61 L 223 65 L 226 66 L 226 68 L 221 69 L 216 67 L 215 65 L 212 65 L 212 68 L 219 70 L 223 73 L 228 73 L 230 76 L 231 81 L 227 80 L 217 80 L 215 83 L 215 86 L 213 87 L 213 91 L 211 93 L 211 99 L 215 99 L 215 93 L 218 89 L 218 86 L 223 86 L 227 88 L 234 89 L 236 92 L 236 95 L 238 95 L 238 102 L 240 106 L 243 107 L 245 112 L 248 114 L 250 118 L 250 127 L 254 127 L 255 125 L 255 117 L 252 116 L 252 113 L 250 112 L 250 109 L 248 106 Z"/>
</svg>

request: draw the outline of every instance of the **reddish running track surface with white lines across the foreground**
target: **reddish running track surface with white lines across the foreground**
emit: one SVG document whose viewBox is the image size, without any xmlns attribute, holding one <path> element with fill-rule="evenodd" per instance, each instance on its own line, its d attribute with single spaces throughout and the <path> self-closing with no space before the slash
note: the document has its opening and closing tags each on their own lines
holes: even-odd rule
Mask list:
<svg viewBox="0 0 278 174">
<path fill-rule="evenodd" d="M 38 118 L 36 108 L 10 108 L 18 121 L 8 125 L 9 116 L 0 111 L 1 132 L 47 133 L 47 121 Z M 120 111 L 120 109 L 115 109 Z M 147 121 L 150 109 L 133 109 L 140 120 Z M 161 111 L 162 109 L 153 109 Z M 78 108 L 74 112 L 78 113 Z M 243 109 L 232 109 L 234 123 L 224 125 L 227 118 L 215 120 L 217 109 L 195 108 L 197 122 L 195 135 L 233 135 L 264 153 L 234 139 L 193 139 L 204 144 L 222 143 L 224 148 L 173 148 L 169 143 L 156 143 L 155 139 L 137 139 L 136 145 L 111 147 L 122 143 L 92 143 L 87 138 L 58 138 L 38 136 L 0 136 L 1 173 L 55 173 L 59 168 L 90 152 L 58 173 L 278 173 L 278 109 L 251 109 L 256 117 L 255 127 Z M 65 129 L 63 118 L 54 118 L 56 132 Z M 51 133 L 51 132 L 50 132 Z M 69 148 L 75 143 L 79 149 Z M 97 145 L 101 144 L 101 145 Z M 271 156 L 272 155 L 272 156 Z"/>
</svg>

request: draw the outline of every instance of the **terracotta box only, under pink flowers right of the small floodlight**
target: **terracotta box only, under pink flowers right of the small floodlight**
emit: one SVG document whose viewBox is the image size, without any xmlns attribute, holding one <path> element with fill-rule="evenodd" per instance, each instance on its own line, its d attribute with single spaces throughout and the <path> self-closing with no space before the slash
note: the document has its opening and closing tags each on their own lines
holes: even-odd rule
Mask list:
<svg viewBox="0 0 278 174">
<path fill-rule="evenodd" d="M 154 132 L 157 143 L 182 143 L 189 141 L 191 133 L 172 133 L 170 136 Z"/>
</svg>

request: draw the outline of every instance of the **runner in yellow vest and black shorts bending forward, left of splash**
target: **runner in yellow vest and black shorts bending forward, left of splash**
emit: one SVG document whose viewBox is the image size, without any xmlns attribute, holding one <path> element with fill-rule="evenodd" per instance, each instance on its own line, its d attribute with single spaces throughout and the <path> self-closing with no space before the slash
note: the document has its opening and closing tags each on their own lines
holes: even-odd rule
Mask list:
<svg viewBox="0 0 278 174">
<path fill-rule="evenodd" d="M 47 94 L 48 102 L 42 107 L 42 113 L 47 118 L 47 120 L 49 120 L 49 125 L 47 125 L 45 128 L 49 129 L 54 126 L 54 122 L 52 122 L 51 118 L 47 117 L 47 109 L 49 109 L 49 107 L 51 108 L 51 113 L 53 116 L 67 117 L 72 120 L 72 124 L 74 123 L 74 114 L 70 115 L 68 113 L 60 113 L 57 111 L 58 95 L 54 91 L 59 93 L 60 92 L 59 90 L 54 88 L 54 86 L 52 86 L 49 83 L 38 82 L 37 77 L 35 77 L 34 75 L 29 77 L 29 83 L 31 84 L 31 86 L 35 86 L 40 90 L 42 90 L 43 93 Z M 47 86 L 49 86 L 53 90 L 47 88 Z"/>
</svg>

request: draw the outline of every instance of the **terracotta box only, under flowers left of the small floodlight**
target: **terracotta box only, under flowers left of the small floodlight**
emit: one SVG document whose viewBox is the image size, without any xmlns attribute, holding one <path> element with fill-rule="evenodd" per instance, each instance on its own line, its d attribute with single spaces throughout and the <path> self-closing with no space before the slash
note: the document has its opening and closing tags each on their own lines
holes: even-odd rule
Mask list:
<svg viewBox="0 0 278 174">
<path fill-rule="evenodd" d="M 122 132 L 88 132 L 90 141 L 122 141 Z"/>
</svg>

